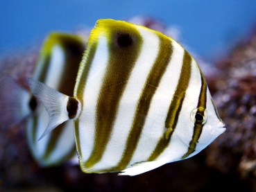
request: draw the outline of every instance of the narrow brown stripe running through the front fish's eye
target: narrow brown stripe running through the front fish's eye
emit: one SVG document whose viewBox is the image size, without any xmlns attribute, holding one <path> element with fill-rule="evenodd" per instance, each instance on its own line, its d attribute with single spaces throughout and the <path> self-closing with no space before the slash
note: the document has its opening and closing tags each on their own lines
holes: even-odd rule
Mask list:
<svg viewBox="0 0 256 192">
<path fill-rule="evenodd" d="M 199 98 L 198 98 L 198 105 L 197 105 L 197 112 L 201 115 L 204 116 L 204 112 L 206 109 L 206 99 L 207 99 L 207 83 L 205 78 L 203 77 L 203 73 L 202 71 L 199 69 L 200 71 L 200 75 L 201 75 L 201 89 L 200 89 L 200 94 L 199 94 Z M 185 153 L 185 155 L 183 155 L 181 157 L 181 159 L 185 159 L 186 157 L 188 157 L 189 155 L 191 155 L 192 152 L 195 151 L 196 149 L 196 143 L 198 143 L 198 139 L 200 138 L 200 134 L 202 133 L 203 130 L 203 121 L 196 121 L 194 123 L 194 132 L 193 132 L 193 136 L 192 139 L 189 143 L 189 148 L 187 150 L 187 152 Z"/>
</svg>

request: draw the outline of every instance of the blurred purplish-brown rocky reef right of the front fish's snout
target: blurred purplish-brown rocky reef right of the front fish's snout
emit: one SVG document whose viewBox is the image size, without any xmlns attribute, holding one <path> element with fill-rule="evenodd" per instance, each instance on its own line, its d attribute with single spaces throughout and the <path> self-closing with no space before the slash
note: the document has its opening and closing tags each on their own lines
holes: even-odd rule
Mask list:
<svg viewBox="0 0 256 192">
<path fill-rule="evenodd" d="M 227 130 L 206 150 L 206 164 L 223 174 L 237 173 L 256 191 L 256 28 L 219 59 L 214 101 Z"/>
</svg>

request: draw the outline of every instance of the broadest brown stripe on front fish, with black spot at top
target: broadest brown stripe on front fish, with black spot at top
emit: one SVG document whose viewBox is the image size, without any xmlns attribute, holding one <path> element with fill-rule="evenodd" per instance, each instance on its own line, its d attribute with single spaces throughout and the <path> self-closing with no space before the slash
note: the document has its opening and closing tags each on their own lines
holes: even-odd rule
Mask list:
<svg viewBox="0 0 256 192">
<path fill-rule="evenodd" d="M 142 37 L 133 25 L 108 27 L 105 34 L 108 35 L 110 57 L 96 104 L 94 148 L 85 162 L 87 168 L 94 166 L 103 156 L 116 119 L 119 101 L 142 46 Z"/>
</svg>

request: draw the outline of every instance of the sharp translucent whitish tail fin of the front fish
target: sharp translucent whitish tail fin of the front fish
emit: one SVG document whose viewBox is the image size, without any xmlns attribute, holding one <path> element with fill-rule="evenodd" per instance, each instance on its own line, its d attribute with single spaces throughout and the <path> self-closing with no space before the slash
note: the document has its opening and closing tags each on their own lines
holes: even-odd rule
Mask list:
<svg viewBox="0 0 256 192">
<path fill-rule="evenodd" d="M 28 78 L 28 85 L 31 87 L 33 94 L 42 102 L 49 114 L 48 126 L 40 137 L 40 139 L 42 139 L 58 125 L 69 120 L 69 114 L 67 112 L 69 96 L 61 94 L 59 91 L 52 89 L 42 82 L 33 80 L 32 78 Z M 38 139 L 38 141 L 40 139 Z"/>
</svg>

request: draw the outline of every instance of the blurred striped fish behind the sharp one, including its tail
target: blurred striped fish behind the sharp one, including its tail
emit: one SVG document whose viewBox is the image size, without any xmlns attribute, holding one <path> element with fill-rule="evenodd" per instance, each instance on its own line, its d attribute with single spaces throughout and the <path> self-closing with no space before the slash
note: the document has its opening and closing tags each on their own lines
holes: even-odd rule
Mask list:
<svg viewBox="0 0 256 192">
<path fill-rule="evenodd" d="M 80 35 L 57 32 L 49 34 L 44 40 L 31 76 L 72 96 L 85 44 L 86 40 Z M 46 110 L 29 89 L 20 86 L 10 76 L 1 80 L 2 86 L 0 105 L 4 105 L 4 115 L 0 118 L 1 125 L 25 121 L 28 147 L 38 164 L 53 166 L 72 157 L 78 162 L 74 124 L 67 121 L 47 134 L 41 142 L 37 142 L 49 121 Z"/>
</svg>

